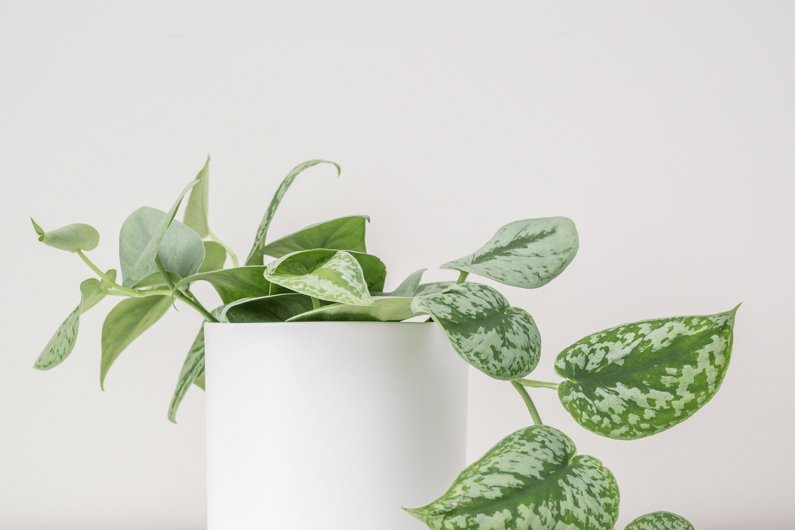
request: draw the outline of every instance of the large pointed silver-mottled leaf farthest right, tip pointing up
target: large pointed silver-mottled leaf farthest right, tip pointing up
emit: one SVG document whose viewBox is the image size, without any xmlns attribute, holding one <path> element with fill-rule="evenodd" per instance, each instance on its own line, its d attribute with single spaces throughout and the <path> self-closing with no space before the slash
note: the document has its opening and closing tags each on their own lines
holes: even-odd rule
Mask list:
<svg viewBox="0 0 795 530">
<path fill-rule="evenodd" d="M 568 379 L 560 402 L 584 428 L 616 440 L 672 428 L 720 388 L 736 311 L 640 321 L 578 340 L 555 360 Z"/>
</svg>

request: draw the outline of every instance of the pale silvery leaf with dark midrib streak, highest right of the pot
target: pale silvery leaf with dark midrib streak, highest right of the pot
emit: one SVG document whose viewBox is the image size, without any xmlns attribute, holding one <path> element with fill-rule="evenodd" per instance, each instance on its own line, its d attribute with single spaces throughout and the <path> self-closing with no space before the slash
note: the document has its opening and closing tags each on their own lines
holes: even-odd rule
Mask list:
<svg viewBox="0 0 795 530">
<path fill-rule="evenodd" d="M 577 229 L 571 219 L 525 219 L 503 226 L 477 252 L 444 263 L 441 268 L 534 289 L 560 275 L 572 263 L 579 247 Z"/>
</svg>

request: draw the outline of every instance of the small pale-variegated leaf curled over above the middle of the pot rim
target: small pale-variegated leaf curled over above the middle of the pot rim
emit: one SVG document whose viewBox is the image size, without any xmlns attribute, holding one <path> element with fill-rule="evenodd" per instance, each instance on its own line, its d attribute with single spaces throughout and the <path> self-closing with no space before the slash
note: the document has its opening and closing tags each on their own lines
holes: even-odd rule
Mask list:
<svg viewBox="0 0 795 530">
<path fill-rule="evenodd" d="M 359 261 L 341 250 L 319 248 L 282 256 L 268 264 L 265 278 L 322 300 L 351 305 L 375 304 L 367 290 Z"/>
</svg>

